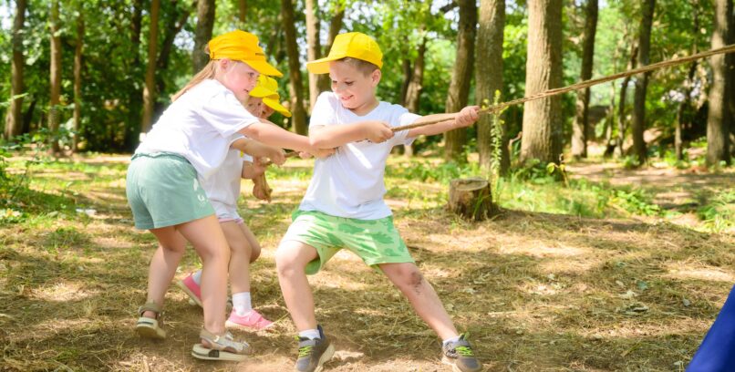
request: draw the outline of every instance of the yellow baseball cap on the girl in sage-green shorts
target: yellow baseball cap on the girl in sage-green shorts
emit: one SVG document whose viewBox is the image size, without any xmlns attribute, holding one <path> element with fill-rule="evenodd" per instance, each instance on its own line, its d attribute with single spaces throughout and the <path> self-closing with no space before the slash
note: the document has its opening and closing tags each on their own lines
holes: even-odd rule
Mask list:
<svg viewBox="0 0 735 372">
<path fill-rule="evenodd" d="M 263 75 L 283 77 L 284 74 L 265 60 L 263 48 L 258 46 L 258 37 L 249 32 L 234 30 L 214 37 L 209 42 L 210 59 L 229 58 L 243 61 Z"/>
</svg>

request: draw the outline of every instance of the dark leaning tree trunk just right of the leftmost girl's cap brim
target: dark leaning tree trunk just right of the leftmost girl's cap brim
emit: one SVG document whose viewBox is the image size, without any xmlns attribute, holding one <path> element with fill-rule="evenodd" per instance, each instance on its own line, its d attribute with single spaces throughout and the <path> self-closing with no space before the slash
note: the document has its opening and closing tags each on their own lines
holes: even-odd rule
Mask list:
<svg viewBox="0 0 735 372">
<path fill-rule="evenodd" d="M 306 134 L 306 112 L 304 109 L 304 84 L 301 81 L 301 62 L 296 47 L 296 27 L 293 0 L 281 0 L 281 16 L 285 29 L 286 54 L 288 55 L 288 77 L 291 80 L 291 119 L 298 134 Z"/>
</svg>

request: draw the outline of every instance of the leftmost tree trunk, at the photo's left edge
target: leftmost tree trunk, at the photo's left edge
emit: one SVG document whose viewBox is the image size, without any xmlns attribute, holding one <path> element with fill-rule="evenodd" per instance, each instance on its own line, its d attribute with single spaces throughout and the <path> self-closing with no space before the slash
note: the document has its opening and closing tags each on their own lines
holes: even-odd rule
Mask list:
<svg viewBox="0 0 735 372">
<path fill-rule="evenodd" d="M 5 139 L 22 134 L 23 130 L 23 24 L 26 22 L 26 0 L 16 0 L 16 15 L 13 18 L 13 59 L 10 62 L 10 108 L 5 116 Z"/>
</svg>

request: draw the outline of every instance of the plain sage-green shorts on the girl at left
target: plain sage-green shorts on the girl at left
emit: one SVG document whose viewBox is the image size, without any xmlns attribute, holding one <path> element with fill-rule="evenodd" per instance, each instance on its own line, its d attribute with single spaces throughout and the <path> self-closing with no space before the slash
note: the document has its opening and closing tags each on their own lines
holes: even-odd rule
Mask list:
<svg viewBox="0 0 735 372">
<path fill-rule="evenodd" d="M 214 214 L 197 172 L 180 155 L 135 154 L 128 167 L 125 191 L 135 227 L 158 229 Z"/>
</svg>

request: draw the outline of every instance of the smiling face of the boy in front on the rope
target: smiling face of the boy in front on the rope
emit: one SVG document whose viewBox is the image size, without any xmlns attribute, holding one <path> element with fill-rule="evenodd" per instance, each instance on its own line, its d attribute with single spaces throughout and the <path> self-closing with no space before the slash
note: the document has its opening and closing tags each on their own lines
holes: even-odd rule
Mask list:
<svg viewBox="0 0 735 372">
<path fill-rule="evenodd" d="M 345 109 L 360 109 L 375 101 L 375 88 L 380 81 L 380 70 L 365 75 L 347 62 L 329 63 L 329 78 L 332 79 L 332 91 L 339 97 Z"/>
</svg>

